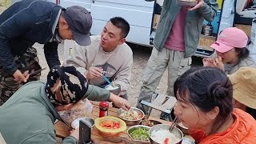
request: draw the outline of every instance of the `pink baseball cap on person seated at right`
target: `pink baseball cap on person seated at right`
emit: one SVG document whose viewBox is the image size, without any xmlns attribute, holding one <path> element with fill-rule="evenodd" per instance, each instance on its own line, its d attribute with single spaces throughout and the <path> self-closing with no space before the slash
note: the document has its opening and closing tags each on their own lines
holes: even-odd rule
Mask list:
<svg viewBox="0 0 256 144">
<path fill-rule="evenodd" d="M 225 53 L 234 49 L 234 47 L 244 48 L 247 42 L 248 37 L 245 32 L 236 27 L 229 27 L 222 30 L 221 34 L 218 35 L 217 41 L 210 47 L 220 53 Z"/>
</svg>

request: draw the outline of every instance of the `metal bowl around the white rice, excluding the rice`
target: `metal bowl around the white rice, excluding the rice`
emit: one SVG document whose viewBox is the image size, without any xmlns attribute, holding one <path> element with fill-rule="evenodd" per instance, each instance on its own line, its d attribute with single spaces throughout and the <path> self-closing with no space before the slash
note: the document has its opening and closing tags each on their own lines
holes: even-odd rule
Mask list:
<svg viewBox="0 0 256 144">
<path fill-rule="evenodd" d="M 150 142 L 152 144 L 159 144 L 158 142 L 156 142 L 152 136 L 151 136 L 151 133 L 153 130 L 169 130 L 170 129 L 170 125 L 166 125 L 166 124 L 159 124 L 159 125 L 155 125 L 153 127 L 150 128 Z M 176 142 L 176 143 L 181 143 L 182 142 L 182 138 L 183 138 L 183 134 L 182 134 L 182 131 L 179 130 L 177 127 L 174 127 L 174 130 L 172 131 L 173 134 L 175 134 L 176 137 L 179 138 L 179 141 Z"/>
</svg>

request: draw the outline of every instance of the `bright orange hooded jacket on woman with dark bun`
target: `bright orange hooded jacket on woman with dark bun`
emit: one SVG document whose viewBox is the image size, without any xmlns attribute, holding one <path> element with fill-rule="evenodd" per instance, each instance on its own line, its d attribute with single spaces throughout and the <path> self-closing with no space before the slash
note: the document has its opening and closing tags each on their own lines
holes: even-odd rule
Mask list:
<svg viewBox="0 0 256 144">
<path fill-rule="evenodd" d="M 234 109 L 235 121 L 222 133 L 205 136 L 202 130 L 191 130 L 190 135 L 199 144 L 252 144 L 256 143 L 256 121 L 246 112 Z"/>
</svg>

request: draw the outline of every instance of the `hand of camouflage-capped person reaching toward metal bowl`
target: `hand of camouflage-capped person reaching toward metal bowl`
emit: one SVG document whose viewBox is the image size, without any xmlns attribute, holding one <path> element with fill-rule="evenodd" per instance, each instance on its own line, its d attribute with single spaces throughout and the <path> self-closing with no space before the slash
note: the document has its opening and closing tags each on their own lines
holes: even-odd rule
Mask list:
<svg viewBox="0 0 256 144">
<path fill-rule="evenodd" d="M 122 108 L 123 110 L 130 110 L 130 103 L 125 99 L 118 97 L 118 95 L 110 93 L 110 99 L 113 102 L 114 106 Z"/>
</svg>

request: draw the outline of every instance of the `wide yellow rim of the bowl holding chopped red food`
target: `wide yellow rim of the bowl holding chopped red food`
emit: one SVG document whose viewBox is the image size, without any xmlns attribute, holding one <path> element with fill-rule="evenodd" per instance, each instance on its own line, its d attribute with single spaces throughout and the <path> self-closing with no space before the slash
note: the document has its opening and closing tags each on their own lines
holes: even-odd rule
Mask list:
<svg viewBox="0 0 256 144">
<path fill-rule="evenodd" d="M 115 120 L 115 121 L 118 121 L 121 123 L 121 127 L 119 129 L 115 129 L 115 130 L 111 130 L 111 129 L 106 129 L 106 128 L 102 128 L 102 126 L 99 126 L 99 124 L 102 122 L 102 121 L 105 121 L 106 119 L 112 119 L 112 120 Z M 124 122 L 122 119 L 120 118 L 116 118 L 116 117 L 113 117 L 113 116 L 106 116 L 106 117 L 102 117 L 102 118 L 96 118 L 94 120 L 94 125 L 95 127 L 103 132 L 103 133 L 110 133 L 110 134 L 115 134 L 115 133 L 121 133 L 122 131 L 126 130 L 127 129 L 127 126 L 126 126 L 126 122 Z"/>
</svg>

